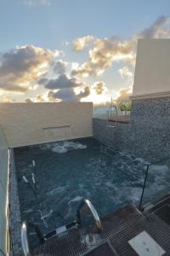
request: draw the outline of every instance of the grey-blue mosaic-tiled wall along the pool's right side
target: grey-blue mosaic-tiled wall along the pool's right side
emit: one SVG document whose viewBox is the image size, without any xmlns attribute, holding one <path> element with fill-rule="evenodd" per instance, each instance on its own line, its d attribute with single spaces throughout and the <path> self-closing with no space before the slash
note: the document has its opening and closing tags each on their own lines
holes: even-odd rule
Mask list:
<svg viewBox="0 0 170 256">
<path fill-rule="evenodd" d="M 145 160 L 170 156 L 170 97 L 133 101 L 130 123 L 110 125 L 94 119 L 94 137 L 101 143 Z"/>
</svg>

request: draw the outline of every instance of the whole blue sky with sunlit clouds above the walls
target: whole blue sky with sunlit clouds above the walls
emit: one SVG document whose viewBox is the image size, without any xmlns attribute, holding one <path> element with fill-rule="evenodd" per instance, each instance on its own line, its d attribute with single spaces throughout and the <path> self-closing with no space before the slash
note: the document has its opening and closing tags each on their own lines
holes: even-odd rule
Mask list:
<svg viewBox="0 0 170 256">
<path fill-rule="evenodd" d="M 169 0 L 0 0 L 0 102 L 127 102 L 139 38 L 170 38 Z"/>
</svg>

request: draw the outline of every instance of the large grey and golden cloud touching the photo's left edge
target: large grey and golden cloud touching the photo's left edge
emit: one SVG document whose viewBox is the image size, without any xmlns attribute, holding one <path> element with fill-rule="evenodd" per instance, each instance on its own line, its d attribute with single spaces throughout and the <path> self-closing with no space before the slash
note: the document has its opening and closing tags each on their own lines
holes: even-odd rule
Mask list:
<svg viewBox="0 0 170 256">
<path fill-rule="evenodd" d="M 58 54 L 33 45 L 3 53 L 0 55 L 0 88 L 26 93 L 37 79 L 47 73 L 50 62 Z"/>
</svg>

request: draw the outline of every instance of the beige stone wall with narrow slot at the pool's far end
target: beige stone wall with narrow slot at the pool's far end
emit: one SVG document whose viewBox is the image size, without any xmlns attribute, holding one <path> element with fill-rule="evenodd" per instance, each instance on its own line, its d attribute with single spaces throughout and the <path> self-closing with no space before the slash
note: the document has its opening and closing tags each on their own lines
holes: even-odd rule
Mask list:
<svg viewBox="0 0 170 256">
<path fill-rule="evenodd" d="M 9 147 L 91 137 L 93 104 L 1 103 L 0 125 Z"/>
</svg>

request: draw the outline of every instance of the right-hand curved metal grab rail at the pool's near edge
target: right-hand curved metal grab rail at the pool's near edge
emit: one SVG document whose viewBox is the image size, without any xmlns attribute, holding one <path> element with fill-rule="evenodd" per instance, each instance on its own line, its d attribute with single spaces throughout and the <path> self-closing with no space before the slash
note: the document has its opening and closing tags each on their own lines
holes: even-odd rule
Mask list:
<svg viewBox="0 0 170 256">
<path fill-rule="evenodd" d="M 86 205 L 88 207 L 88 209 L 90 210 L 90 212 L 92 213 L 92 215 L 94 217 L 94 220 L 95 220 L 96 228 L 99 232 L 101 232 L 102 231 L 102 224 L 101 224 L 98 212 L 94 208 L 93 204 L 88 199 L 85 199 L 85 198 L 82 199 L 82 202 L 81 202 L 80 206 L 77 209 L 77 224 L 81 224 L 81 209 L 84 205 Z"/>
</svg>

